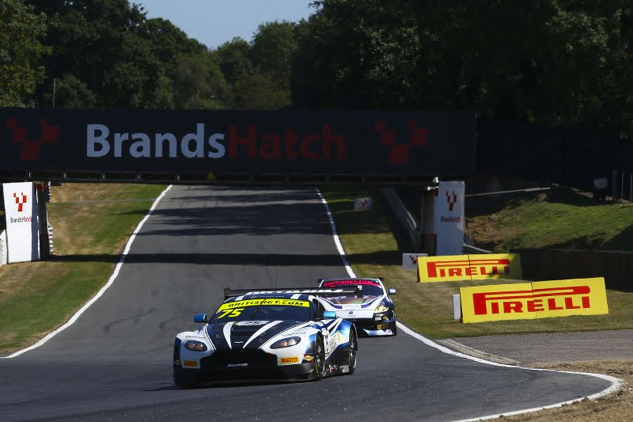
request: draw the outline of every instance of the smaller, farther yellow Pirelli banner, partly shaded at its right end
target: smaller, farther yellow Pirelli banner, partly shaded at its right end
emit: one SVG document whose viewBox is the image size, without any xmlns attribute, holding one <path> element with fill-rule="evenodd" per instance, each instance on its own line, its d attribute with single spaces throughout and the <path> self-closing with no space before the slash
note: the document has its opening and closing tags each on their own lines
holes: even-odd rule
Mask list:
<svg viewBox="0 0 633 422">
<path fill-rule="evenodd" d="M 486 253 L 418 257 L 418 281 L 520 279 L 521 258 L 516 253 Z"/>
</svg>

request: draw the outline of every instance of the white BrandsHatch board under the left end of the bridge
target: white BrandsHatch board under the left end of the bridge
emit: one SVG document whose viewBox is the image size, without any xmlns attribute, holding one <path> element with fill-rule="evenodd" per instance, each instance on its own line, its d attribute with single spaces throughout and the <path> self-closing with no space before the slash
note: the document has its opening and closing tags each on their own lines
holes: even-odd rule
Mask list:
<svg viewBox="0 0 633 422">
<path fill-rule="evenodd" d="M 7 262 L 37 261 L 39 203 L 32 182 L 2 184 L 6 217 Z"/>
</svg>

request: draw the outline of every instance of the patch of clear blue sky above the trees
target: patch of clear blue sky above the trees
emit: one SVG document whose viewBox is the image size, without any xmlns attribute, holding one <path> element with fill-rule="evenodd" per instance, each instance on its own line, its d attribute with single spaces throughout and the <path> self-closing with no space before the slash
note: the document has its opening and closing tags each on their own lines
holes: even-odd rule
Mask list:
<svg viewBox="0 0 633 422">
<path fill-rule="evenodd" d="M 298 22 L 314 13 L 313 0 L 129 0 L 140 4 L 148 18 L 171 20 L 188 37 L 210 49 L 241 37 L 252 40 L 262 23 Z"/>
</svg>

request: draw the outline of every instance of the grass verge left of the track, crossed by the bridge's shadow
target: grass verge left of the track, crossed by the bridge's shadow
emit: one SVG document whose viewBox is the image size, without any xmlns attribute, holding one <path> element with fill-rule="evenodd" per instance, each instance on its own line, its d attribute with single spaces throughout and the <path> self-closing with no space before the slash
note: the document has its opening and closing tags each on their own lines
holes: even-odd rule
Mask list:
<svg viewBox="0 0 633 422">
<path fill-rule="evenodd" d="M 47 204 L 53 259 L 0 268 L 0 354 L 64 324 L 108 281 L 129 235 L 164 188 L 53 186 Z"/>
</svg>

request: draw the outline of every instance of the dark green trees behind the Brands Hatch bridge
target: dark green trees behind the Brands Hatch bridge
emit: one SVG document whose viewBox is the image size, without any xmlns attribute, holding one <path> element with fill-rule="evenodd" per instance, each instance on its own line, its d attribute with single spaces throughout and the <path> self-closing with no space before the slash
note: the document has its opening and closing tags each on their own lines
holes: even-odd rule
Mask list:
<svg viewBox="0 0 633 422">
<path fill-rule="evenodd" d="M 630 0 L 313 6 L 210 49 L 127 0 L 1 0 L 0 106 L 470 109 L 633 134 Z"/>
</svg>

